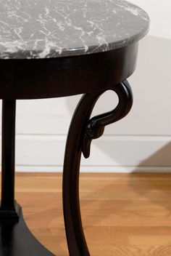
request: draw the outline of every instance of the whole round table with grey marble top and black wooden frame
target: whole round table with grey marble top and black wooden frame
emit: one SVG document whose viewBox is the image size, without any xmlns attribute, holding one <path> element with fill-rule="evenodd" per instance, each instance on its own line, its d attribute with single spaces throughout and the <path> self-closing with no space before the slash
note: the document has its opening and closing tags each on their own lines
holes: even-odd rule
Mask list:
<svg viewBox="0 0 171 256">
<path fill-rule="evenodd" d="M 64 155 L 63 212 L 69 255 L 90 256 L 80 215 L 80 158 L 90 156 L 92 140 L 108 124 L 129 113 L 133 95 L 126 79 L 148 30 L 149 16 L 128 1 L 0 0 L 0 256 L 54 256 L 29 231 L 14 200 L 16 101 L 78 94 L 84 95 Z M 107 90 L 117 94 L 118 105 L 91 118 Z"/>
</svg>

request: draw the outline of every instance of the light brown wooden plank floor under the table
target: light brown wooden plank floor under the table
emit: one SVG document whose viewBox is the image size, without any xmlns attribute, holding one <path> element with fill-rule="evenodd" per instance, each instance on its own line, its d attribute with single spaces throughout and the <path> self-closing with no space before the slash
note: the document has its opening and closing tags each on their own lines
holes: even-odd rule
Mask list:
<svg viewBox="0 0 171 256">
<path fill-rule="evenodd" d="M 17 174 L 16 187 L 30 230 L 68 255 L 62 175 Z M 171 255 L 171 175 L 82 174 L 80 199 L 91 256 Z"/>
</svg>

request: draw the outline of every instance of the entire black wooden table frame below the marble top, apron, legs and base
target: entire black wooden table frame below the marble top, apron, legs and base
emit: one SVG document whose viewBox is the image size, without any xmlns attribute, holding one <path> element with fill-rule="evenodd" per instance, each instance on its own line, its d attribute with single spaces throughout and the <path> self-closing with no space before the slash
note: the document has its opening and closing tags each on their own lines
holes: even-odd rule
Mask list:
<svg viewBox="0 0 171 256">
<path fill-rule="evenodd" d="M 53 256 L 30 233 L 14 201 L 14 123 L 17 99 L 86 93 L 70 125 L 64 159 L 64 221 L 70 256 L 88 256 L 79 203 L 81 153 L 88 158 L 91 141 L 104 127 L 122 119 L 132 105 L 131 89 L 122 82 L 135 70 L 138 43 L 92 55 L 45 60 L 0 60 L 2 114 L 2 191 L 0 256 Z M 90 119 L 96 100 L 112 89 L 119 97 L 114 111 Z"/>
</svg>

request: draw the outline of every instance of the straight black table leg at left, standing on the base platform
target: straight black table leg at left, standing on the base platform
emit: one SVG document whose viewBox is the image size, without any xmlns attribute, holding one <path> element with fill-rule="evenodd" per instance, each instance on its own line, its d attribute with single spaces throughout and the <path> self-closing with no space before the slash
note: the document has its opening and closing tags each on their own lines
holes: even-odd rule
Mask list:
<svg viewBox="0 0 171 256">
<path fill-rule="evenodd" d="M 1 208 L 0 215 L 19 218 L 14 201 L 14 144 L 16 100 L 2 100 Z"/>
</svg>

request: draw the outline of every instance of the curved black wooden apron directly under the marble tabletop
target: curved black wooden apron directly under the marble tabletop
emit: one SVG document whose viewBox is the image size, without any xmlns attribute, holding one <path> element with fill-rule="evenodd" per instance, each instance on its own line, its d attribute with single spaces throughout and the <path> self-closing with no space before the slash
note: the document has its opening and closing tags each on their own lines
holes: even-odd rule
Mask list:
<svg viewBox="0 0 171 256">
<path fill-rule="evenodd" d="M 0 98 L 64 97 L 108 89 L 135 70 L 138 43 L 110 52 L 45 60 L 0 60 Z"/>
</svg>

